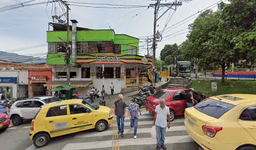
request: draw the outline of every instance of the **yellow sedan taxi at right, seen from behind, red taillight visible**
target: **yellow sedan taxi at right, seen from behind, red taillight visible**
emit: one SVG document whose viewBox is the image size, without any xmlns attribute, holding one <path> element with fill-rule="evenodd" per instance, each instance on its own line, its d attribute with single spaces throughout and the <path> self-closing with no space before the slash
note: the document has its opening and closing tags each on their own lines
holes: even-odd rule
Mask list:
<svg viewBox="0 0 256 150">
<path fill-rule="evenodd" d="M 186 131 L 205 150 L 256 150 L 256 95 L 213 96 L 185 110 Z"/>
</svg>

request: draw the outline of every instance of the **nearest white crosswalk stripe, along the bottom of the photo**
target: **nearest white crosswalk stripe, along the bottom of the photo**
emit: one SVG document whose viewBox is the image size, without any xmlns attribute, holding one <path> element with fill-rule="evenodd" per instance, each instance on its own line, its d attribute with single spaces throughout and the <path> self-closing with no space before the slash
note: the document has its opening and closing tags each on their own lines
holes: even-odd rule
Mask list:
<svg viewBox="0 0 256 150">
<path fill-rule="evenodd" d="M 166 144 L 176 144 L 176 143 L 189 143 L 193 139 L 190 136 L 171 136 L 166 137 Z M 119 139 L 119 146 L 136 146 L 136 145 L 154 145 L 156 144 L 156 139 L 152 138 L 138 138 L 138 139 Z M 101 142 L 88 142 L 88 143 L 69 143 L 62 150 L 79 150 L 79 149 L 99 149 L 99 148 L 111 148 L 111 141 L 101 141 Z"/>
</svg>

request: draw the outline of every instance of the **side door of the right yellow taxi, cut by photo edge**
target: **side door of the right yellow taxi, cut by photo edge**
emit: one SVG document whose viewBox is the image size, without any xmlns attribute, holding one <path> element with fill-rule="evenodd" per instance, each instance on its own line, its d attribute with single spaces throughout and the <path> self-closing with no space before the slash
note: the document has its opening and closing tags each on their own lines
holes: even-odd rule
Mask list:
<svg viewBox="0 0 256 150">
<path fill-rule="evenodd" d="M 245 108 L 238 123 L 256 140 L 256 105 Z"/>
</svg>

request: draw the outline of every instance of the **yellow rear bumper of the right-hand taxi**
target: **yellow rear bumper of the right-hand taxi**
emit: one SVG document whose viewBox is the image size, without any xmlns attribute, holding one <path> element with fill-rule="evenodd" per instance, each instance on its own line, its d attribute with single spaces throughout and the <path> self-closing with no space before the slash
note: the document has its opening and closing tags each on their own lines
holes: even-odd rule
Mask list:
<svg viewBox="0 0 256 150">
<path fill-rule="evenodd" d="M 205 134 L 202 136 L 198 133 L 196 133 L 195 131 L 193 131 L 193 129 L 190 128 L 189 123 L 186 121 L 184 121 L 184 125 L 186 127 L 186 131 L 189 134 L 189 136 L 191 136 L 191 138 L 198 143 L 201 148 L 205 149 L 205 150 L 231 150 L 231 149 L 235 149 L 234 145 L 232 144 L 223 144 L 220 143 L 219 141 L 217 141 L 215 138 L 210 138 L 208 136 L 206 136 Z"/>
</svg>

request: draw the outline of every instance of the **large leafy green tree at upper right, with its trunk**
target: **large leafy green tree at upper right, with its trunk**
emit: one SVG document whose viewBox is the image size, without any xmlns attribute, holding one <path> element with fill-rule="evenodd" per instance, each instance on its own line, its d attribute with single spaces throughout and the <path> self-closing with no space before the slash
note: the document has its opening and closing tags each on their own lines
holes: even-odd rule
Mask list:
<svg viewBox="0 0 256 150">
<path fill-rule="evenodd" d="M 256 56 L 256 1 L 230 0 L 221 2 L 216 12 L 202 12 L 189 25 L 188 39 L 181 52 L 198 58 L 202 68 L 221 67 L 224 83 L 225 67 L 240 59 Z"/>
</svg>

